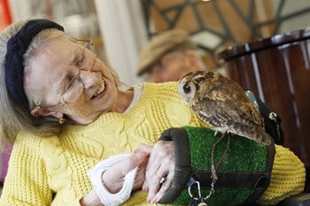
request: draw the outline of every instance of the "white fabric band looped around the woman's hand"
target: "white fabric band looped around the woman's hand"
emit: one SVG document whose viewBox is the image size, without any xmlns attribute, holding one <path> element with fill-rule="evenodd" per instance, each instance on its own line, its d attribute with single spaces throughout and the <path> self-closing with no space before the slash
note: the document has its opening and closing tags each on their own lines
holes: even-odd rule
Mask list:
<svg viewBox="0 0 310 206">
<path fill-rule="evenodd" d="M 132 187 L 134 186 L 136 171 L 138 167 L 128 172 L 128 174 L 125 176 L 123 187 L 120 189 L 120 192 L 116 194 L 111 194 L 105 188 L 105 185 L 102 183 L 101 178 L 103 172 L 112 167 L 113 164 L 120 162 L 121 160 L 130 155 L 131 155 L 130 153 L 126 153 L 119 156 L 111 156 L 105 159 L 104 161 L 101 161 L 98 164 L 96 164 L 95 167 L 89 170 L 88 172 L 89 179 L 93 184 L 97 192 L 97 195 L 100 198 L 100 201 L 104 203 L 105 206 L 118 206 L 126 202 L 130 197 Z"/>
</svg>

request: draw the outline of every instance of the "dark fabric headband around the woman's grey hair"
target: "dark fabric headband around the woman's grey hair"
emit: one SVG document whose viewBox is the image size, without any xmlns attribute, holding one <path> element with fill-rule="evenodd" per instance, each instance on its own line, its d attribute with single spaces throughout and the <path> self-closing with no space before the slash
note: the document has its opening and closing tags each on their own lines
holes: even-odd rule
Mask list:
<svg viewBox="0 0 310 206">
<path fill-rule="evenodd" d="M 48 19 L 29 20 L 7 42 L 5 55 L 5 85 L 8 94 L 15 103 L 29 110 L 29 102 L 24 91 L 24 54 L 35 37 L 46 28 L 56 28 L 64 31 L 64 28 Z"/>
</svg>

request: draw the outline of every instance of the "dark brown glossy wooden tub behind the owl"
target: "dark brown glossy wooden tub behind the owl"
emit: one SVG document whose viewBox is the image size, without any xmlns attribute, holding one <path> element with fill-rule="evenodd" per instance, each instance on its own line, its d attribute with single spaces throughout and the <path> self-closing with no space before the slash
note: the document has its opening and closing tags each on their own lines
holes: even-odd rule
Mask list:
<svg viewBox="0 0 310 206">
<path fill-rule="evenodd" d="M 281 116 L 284 146 L 309 164 L 310 30 L 230 47 L 218 57 L 232 80 Z"/>
</svg>

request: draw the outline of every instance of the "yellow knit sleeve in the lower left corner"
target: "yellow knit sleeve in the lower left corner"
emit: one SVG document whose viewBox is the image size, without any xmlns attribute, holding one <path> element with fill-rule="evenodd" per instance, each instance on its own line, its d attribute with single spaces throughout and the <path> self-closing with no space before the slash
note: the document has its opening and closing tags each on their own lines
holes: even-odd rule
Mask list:
<svg viewBox="0 0 310 206">
<path fill-rule="evenodd" d="M 30 134 L 18 135 L 0 205 L 50 205 L 52 193 L 39 151 L 40 138 Z"/>
</svg>

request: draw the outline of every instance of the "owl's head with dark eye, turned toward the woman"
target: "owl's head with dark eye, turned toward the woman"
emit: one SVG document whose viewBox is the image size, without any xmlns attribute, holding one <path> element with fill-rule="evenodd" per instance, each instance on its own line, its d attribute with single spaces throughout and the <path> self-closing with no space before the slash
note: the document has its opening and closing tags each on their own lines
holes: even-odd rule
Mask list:
<svg viewBox="0 0 310 206">
<path fill-rule="evenodd" d="M 192 104 L 202 81 L 205 81 L 205 72 L 203 71 L 189 72 L 179 80 L 179 94 L 185 102 Z"/>
</svg>

